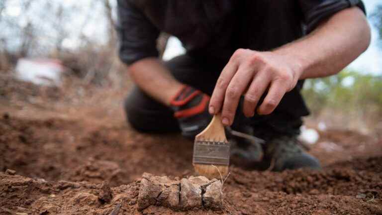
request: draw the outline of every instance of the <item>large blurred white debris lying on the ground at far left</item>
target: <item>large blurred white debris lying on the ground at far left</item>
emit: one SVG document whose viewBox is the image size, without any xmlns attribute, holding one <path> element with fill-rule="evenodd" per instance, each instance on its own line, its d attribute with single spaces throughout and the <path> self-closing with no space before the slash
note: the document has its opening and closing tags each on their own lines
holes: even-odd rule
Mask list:
<svg viewBox="0 0 382 215">
<path fill-rule="evenodd" d="M 59 85 L 60 75 L 65 70 L 56 59 L 21 58 L 16 65 L 16 78 L 36 85 Z"/>
</svg>

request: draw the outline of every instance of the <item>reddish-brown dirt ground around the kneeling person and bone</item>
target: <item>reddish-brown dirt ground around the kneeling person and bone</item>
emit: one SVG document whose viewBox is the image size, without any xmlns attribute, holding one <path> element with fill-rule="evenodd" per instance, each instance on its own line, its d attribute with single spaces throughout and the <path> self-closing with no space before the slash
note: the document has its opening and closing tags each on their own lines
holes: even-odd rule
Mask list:
<svg viewBox="0 0 382 215">
<path fill-rule="evenodd" d="M 144 172 L 193 175 L 191 141 L 129 127 L 121 109 L 126 89 L 62 90 L 7 79 L 0 86 L 0 215 L 382 215 L 378 134 L 320 132 L 310 150 L 320 172 L 231 166 L 223 211 L 138 212 Z M 108 187 L 110 201 L 103 197 Z"/>
</svg>

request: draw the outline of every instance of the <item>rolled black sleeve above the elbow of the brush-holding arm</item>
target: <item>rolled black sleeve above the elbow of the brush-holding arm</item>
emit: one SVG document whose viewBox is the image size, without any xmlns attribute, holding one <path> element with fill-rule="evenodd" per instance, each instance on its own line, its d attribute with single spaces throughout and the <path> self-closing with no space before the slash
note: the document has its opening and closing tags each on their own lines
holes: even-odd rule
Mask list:
<svg viewBox="0 0 382 215">
<path fill-rule="evenodd" d="M 352 6 L 358 6 L 366 14 L 365 5 L 362 0 L 298 0 L 306 33 L 313 31 L 325 18 L 334 13 Z"/>
</svg>

